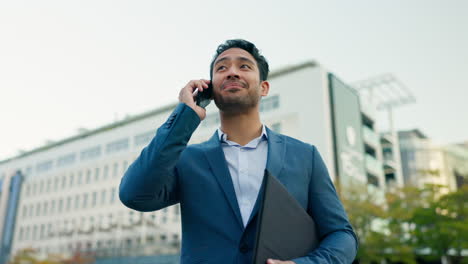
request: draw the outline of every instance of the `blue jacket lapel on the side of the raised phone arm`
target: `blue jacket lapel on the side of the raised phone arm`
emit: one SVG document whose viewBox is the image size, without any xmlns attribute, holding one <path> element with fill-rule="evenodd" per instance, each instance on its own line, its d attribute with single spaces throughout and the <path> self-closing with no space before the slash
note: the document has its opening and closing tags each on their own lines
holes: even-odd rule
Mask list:
<svg viewBox="0 0 468 264">
<path fill-rule="evenodd" d="M 244 228 L 240 214 L 239 204 L 237 203 L 236 192 L 232 183 L 231 174 L 227 167 L 226 158 L 218 138 L 218 132 L 208 141 L 208 147 L 205 149 L 206 158 L 213 170 L 213 173 L 223 190 L 229 205 L 236 216 L 237 222 Z"/>
</svg>

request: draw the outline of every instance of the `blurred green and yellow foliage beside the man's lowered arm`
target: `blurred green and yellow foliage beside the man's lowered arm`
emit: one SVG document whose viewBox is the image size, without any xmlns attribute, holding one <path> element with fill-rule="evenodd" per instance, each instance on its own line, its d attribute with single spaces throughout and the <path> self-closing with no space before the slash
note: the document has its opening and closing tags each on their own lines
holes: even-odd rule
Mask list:
<svg viewBox="0 0 468 264">
<path fill-rule="evenodd" d="M 468 187 L 447 193 L 443 186 L 404 187 L 384 201 L 366 186 L 341 189 L 341 198 L 359 237 L 360 263 L 416 263 L 416 258 L 452 263 L 468 249 Z"/>
</svg>

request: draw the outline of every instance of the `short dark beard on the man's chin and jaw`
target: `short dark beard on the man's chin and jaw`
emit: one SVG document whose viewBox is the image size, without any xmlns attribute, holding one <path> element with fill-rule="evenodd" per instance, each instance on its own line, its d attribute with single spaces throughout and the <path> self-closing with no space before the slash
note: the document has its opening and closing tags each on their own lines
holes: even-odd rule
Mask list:
<svg viewBox="0 0 468 264">
<path fill-rule="evenodd" d="M 213 94 L 218 109 L 227 114 L 243 114 L 255 108 L 259 103 L 259 96 L 248 95 L 245 97 L 223 98 L 217 93 Z"/>
</svg>

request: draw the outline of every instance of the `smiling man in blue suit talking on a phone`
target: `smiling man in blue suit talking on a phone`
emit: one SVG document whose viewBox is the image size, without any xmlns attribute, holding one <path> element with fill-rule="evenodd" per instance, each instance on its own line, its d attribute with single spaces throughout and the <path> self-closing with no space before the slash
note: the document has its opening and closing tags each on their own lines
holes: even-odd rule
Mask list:
<svg viewBox="0 0 468 264">
<path fill-rule="evenodd" d="M 320 240 L 307 256 L 267 263 L 351 263 L 357 239 L 317 149 L 260 121 L 259 102 L 270 89 L 266 59 L 252 43 L 228 40 L 210 68 L 221 127 L 208 141 L 187 146 L 206 117 L 193 93 L 210 84 L 190 81 L 122 178 L 122 203 L 143 212 L 180 203 L 183 264 L 251 263 L 266 168 L 313 217 Z"/>
</svg>

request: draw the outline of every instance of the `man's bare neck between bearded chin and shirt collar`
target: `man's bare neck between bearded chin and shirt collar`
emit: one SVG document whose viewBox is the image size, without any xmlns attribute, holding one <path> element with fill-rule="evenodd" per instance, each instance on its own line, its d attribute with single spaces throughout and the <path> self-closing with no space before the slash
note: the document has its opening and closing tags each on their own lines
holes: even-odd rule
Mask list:
<svg viewBox="0 0 468 264">
<path fill-rule="evenodd" d="M 262 123 L 258 111 L 229 115 L 220 112 L 221 130 L 227 139 L 244 146 L 262 134 Z"/>
</svg>

